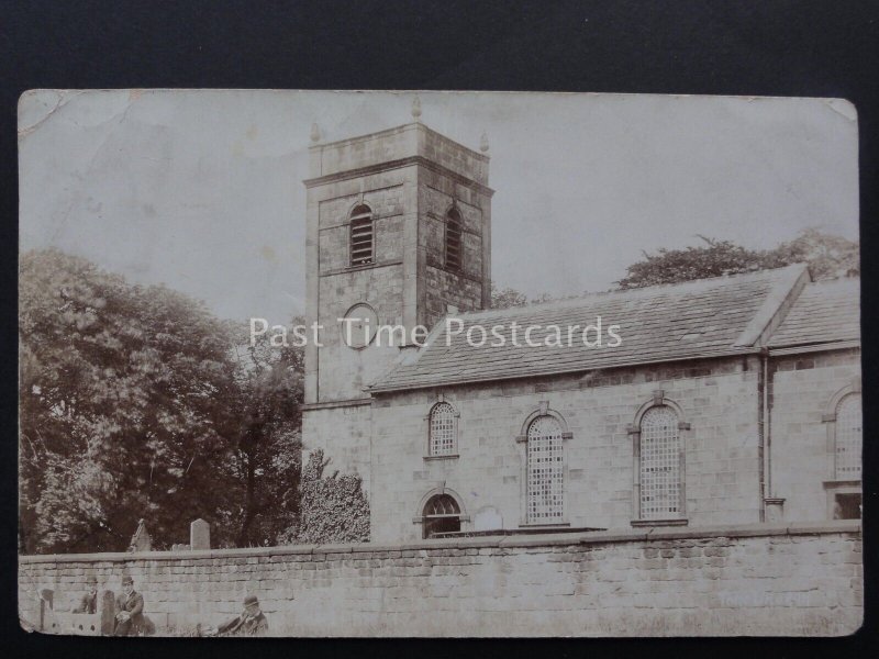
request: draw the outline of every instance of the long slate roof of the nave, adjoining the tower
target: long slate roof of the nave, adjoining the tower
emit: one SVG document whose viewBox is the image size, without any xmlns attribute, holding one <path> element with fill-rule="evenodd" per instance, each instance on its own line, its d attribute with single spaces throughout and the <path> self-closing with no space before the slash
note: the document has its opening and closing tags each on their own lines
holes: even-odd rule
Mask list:
<svg viewBox="0 0 879 659">
<path fill-rule="evenodd" d="M 502 380 L 596 368 L 667 361 L 688 357 L 753 351 L 754 345 L 791 293 L 794 284 L 808 278 L 805 266 L 716 277 L 678 284 L 656 286 L 632 291 L 594 293 L 524 308 L 458 314 L 464 332 L 452 336 L 447 346 L 446 322 L 431 333 L 427 345 L 393 368 L 370 387 L 372 392 L 453 383 Z M 602 347 L 585 346 L 578 334 L 567 346 L 567 327 L 593 324 L 601 316 Z M 520 327 L 542 325 L 532 338 L 543 342 L 546 325 L 559 325 L 565 346 L 527 347 L 523 330 L 521 346 L 511 343 L 511 323 Z M 472 325 L 502 325 L 507 338 L 492 347 L 491 335 L 481 347 L 467 343 Z M 607 345 L 607 328 L 619 325 L 617 347 Z M 594 334 L 591 335 L 594 337 Z"/>
</svg>

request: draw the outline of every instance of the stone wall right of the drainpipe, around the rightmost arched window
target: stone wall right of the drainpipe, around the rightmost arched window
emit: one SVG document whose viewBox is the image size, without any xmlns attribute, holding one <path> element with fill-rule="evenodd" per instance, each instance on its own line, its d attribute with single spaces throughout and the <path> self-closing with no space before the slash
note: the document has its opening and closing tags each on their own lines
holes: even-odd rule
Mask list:
<svg viewBox="0 0 879 659">
<path fill-rule="evenodd" d="M 822 417 L 834 395 L 860 378 L 860 351 L 777 358 L 774 367 L 771 495 L 786 499 L 786 520 L 826 520 L 834 446 Z"/>
</svg>

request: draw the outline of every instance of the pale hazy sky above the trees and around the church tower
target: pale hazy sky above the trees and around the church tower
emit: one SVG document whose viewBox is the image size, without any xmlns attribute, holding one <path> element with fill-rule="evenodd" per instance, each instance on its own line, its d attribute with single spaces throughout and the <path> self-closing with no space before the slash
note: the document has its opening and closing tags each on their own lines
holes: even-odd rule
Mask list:
<svg viewBox="0 0 879 659">
<path fill-rule="evenodd" d="M 304 311 L 308 147 L 421 121 L 491 157 L 492 278 L 602 291 L 698 234 L 858 237 L 844 100 L 537 92 L 96 90 L 19 103 L 20 249 L 56 247 L 220 317 Z"/>
</svg>

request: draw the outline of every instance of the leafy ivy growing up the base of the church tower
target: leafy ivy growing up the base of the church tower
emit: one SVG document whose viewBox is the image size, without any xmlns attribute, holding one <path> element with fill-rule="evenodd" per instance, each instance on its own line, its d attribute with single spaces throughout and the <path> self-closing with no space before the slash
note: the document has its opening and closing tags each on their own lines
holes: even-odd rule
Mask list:
<svg viewBox="0 0 879 659">
<path fill-rule="evenodd" d="M 330 463 L 323 450 L 309 457 L 302 471 L 297 544 L 365 543 L 369 540 L 369 500 L 356 473 L 324 476 Z"/>
</svg>

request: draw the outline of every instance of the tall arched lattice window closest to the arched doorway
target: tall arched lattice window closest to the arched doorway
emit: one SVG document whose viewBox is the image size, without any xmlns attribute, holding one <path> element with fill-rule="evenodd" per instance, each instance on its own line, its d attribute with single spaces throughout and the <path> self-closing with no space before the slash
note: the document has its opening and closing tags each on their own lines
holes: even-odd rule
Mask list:
<svg viewBox="0 0 879 659">
<path fill-rule="evenodd" d="M 530 524 L 560 523 L 565 514 L 565 456 L 561 424 L 548 414 L 535 418 L 527 431 L 527 501 Z"/>
</svg>

